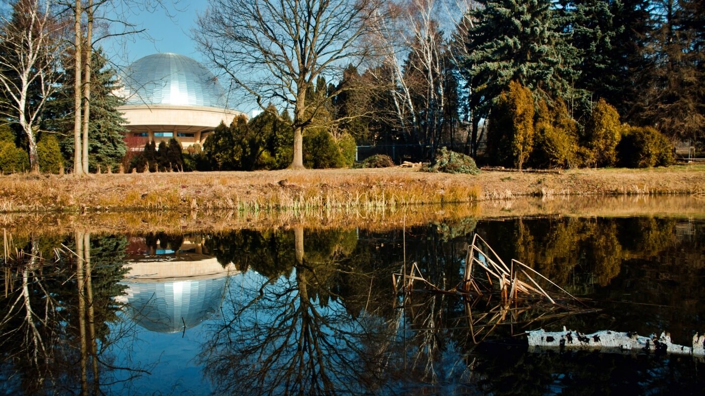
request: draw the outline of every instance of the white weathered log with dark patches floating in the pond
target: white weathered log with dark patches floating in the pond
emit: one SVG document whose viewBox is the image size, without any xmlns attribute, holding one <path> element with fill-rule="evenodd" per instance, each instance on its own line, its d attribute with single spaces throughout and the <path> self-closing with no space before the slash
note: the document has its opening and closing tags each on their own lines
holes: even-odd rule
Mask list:
<svg viewBox="0 0 705 396">
<path fill-rule="evenodd" d="M 687 354 L 695 357 L 705 356 L 705 335 L 694 335 L 692 347 L 673 344 L 670 334 L 651 334 L 649 337 L 637 333 L 621 333 L 602 330 L 583 334 L 579 331 L 566 330 L 547 332 L 544 329 L 527 331 L 529 347 L 532 349 L 588 349 L 604 352 L 640 352 L 654 351 L 669 354 Z"/>
</svg>

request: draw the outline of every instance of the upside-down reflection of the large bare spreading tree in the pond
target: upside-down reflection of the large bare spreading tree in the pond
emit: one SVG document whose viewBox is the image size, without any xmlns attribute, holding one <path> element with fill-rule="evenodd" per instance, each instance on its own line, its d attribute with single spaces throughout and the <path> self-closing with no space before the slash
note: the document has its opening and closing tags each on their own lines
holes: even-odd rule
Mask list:
<svg viewBox="0 0 705 396">
<path fill-rule="evenodd" d="M 252 276 L 257 285 L 230 290 L 233 314 L 204 343 L 205 371 L 224 393 L 374 390 L 377 354 L 367 346 L 380 333 L 369 331 L 373 321 L 367 316 L 354 320 L 331 287 L 341 276 L 339 261 L 355 247 L 355 233 L 321 232 L 304 238 L 304 230 L 294 228 L 288 237 L 293 242 L 288 253 L 276 254 L 279 268 L 271 267 L 271 256 L 248 257 L 255 271 L 264 264 L 269 273 L 289 275 L 269 280 Z"/>
</svg>

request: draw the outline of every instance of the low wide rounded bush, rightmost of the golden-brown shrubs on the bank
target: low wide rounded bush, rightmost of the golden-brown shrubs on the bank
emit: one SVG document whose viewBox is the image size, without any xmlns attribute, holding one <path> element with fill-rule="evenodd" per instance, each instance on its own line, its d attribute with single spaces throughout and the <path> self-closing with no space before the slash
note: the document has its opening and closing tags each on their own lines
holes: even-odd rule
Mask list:
<svg viewBox="0 0 705 396">
<path fill-rule="evenodd" d="M 668 139 L 651 127 L 625 128 L 617 152 L 620 166 L 627 168 L 669 166 L 675 162 Z"/>
</svg>

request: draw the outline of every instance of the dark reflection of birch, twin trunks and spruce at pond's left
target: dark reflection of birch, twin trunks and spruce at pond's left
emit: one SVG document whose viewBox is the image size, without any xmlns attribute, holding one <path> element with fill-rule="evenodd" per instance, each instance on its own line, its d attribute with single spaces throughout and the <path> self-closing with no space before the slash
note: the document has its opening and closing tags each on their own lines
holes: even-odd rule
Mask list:
<svg viewBox="0 0 705 396">
<path fill-rule="evenodd" d="M 102 382 L 114 380 L 107 352 L 119 334 L 107 323 L 118 320 L 114 297 L 122 290 L 125 237 L 76 233 L 64 247 L 61 240 L 32 238 L 18 249 L 31 255 L 6 263 L 0 366 L 11 379 L 0 391 L 98 393 Z M 54 256 L 54 248 L 61 253 Z"/>
</svg>

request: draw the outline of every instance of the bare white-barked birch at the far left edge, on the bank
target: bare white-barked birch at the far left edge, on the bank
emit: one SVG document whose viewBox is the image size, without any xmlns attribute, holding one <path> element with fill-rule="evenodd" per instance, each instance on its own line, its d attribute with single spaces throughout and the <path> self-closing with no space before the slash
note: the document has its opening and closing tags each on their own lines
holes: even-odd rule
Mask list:
<svg viewBox="0 0 705 396">
<path fill-rule="evenodd" d="M 22 128 L 33 173 L 39 172 L 37 132 L 44 104 L 60 78 L 59 59 L 66 49 L 63 26 L 54 18 L 51 0 L 20 0 L 9 19 L 0 18 L 1 113 Z"/>
</svg>

